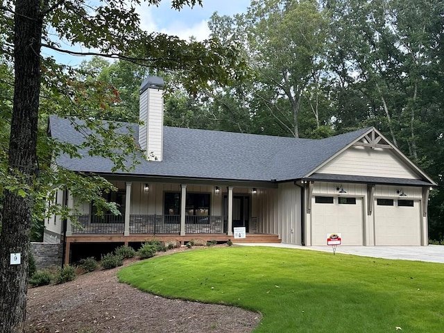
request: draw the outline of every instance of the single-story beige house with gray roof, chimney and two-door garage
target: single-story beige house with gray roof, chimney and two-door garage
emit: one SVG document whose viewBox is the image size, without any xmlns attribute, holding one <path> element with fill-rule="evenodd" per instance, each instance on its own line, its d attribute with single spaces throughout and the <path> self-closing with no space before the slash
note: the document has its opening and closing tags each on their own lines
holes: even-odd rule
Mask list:
<svg viewBox="0 0 444 333">
<path fill-rule="evenodd" d="M 140 89 L 144 125 L 130 126 L 146 156 L 133 171 L 112 172 L 110 161 L 87 154 L 57 160 L 116 185 L 108 199 L 121 216 L 95 216 L 91 203 L 81 203 L 78 224 L 64 228 L 59 216 L 45 222 L 44 241 L 64 240 L 70 253 L 76 244 L 131 244 L 154 235 L 181 244 L 226 241 L 234 227 L 245 227 L 239 241 L 320 246 L 339 232 L 344 246 L 427 246 L 427 201 L 436 183 L 375 128 L 296 139 L 165 127 L 162 87 L 162 78 L 150 77 Z M 83 140 L 69 119 L 51 117 L 49 133 Z M 69 189 L 56 200 L 76 203 Z"/>
</svg>

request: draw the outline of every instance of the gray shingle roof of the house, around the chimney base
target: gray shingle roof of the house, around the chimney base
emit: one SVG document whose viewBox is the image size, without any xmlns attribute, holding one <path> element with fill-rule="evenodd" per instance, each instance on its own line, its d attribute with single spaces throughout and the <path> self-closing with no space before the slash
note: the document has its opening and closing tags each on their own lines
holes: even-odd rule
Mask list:
<svg viewBox="0 0 444 333">
<path fill-rule="evenodd" d="M 137 124 L 121 123 L 138 132 Z M 61 142 L 81 144 L 83 136 L 69 119 L 50 117 L 51 136 Z M 162 162 L 148 162 L 142 156 L 133 171 L 117 175 L 198 178 L 239 181 L 284 181 L 304 177 L 330 157 L 355 142 L 371 128 L 327 139 L 296 139 L 242 133 L 164 127 Z M 135 135 L 137 139 L 137 134 Z M 73 171 L 111 173 L 112 162 L 103 157 L 82 159 L 61 155 L 57 163 Z"/>
</svg>

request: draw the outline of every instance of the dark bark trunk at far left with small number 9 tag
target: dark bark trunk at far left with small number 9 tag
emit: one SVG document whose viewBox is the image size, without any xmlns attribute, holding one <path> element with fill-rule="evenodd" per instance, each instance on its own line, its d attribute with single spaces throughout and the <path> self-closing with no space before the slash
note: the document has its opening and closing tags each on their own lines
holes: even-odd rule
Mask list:
<svg viewBox="0 0 444 333">
<path fill-rule="evenodd" d="M 15 90 L 9 142 L 9 173 L 32 189 L 37 166 L 37 116 L 40 94 L 40 0 L 15 1 Z M 0 235 L 0 332 L 24 332 L 28 287 L 28 250 L 32 191 L 4 191 Z M 10 253 L 21 254 L 21 264 L 10 264 Z"/>
</svg>

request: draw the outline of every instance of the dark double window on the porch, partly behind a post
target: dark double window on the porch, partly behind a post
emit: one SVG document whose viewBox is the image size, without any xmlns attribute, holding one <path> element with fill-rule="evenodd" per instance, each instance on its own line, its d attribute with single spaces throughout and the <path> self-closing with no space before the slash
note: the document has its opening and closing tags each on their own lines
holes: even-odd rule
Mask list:
<svg viewBox="0 0 444 333">
<path fill-rule="evenodd" d="M 180 223 L 179 192 L 165 192 L 164 215 L 167 223 Z M 210 194 L 187 193 L 185 215 L 186 223 L 210 223 Z"/>
</svg>

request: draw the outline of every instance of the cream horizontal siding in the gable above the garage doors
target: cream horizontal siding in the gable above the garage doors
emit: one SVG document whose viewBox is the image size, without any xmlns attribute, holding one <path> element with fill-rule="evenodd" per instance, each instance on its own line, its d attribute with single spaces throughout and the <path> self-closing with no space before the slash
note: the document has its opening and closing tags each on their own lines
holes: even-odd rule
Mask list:
<svg viewBox="0 0 444 333">
<path fill-rule="evenodd" d="M 359 146 L 348 148 L 316 172 L 351 176 L 418 179 L 418 175 L 396 157 L 391 149 L 369 149 Z"/>
</svg>

